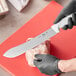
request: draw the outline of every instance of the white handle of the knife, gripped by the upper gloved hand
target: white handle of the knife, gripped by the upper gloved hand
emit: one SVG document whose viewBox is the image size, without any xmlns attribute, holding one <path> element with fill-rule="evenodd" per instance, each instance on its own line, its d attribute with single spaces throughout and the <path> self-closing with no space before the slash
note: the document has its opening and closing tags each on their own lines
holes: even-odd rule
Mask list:
<svg viewBox="0 0 76 76">
<path fill-rule="evenodd" d="M 68 18 L 72 17 L 72 14 L 65 17 L 64 19 L 62 19 L 59 23 L 54 24 L 51 28 L 56 32 L 59 33 L 60 32 L 60 28 L 63 28 L 65 25 L 68 24 Z"/>
</svg>

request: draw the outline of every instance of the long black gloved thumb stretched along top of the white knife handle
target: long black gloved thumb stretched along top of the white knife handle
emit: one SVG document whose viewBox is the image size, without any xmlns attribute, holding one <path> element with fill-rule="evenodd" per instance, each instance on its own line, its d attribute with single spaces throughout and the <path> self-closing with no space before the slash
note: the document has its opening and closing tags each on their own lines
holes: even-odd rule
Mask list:
<svg viewBox="0 0 76 76">
<path fill-rule="evenodd" d="M 61 21 L 64 17 L 76 12 L 74 9 L 74 2 L 70 2 L 67 6 L 65 6 L 62 11 L 60 12 L 59 16 L 56 18 L 54 24 L 58 23 Z"/>
</svg>

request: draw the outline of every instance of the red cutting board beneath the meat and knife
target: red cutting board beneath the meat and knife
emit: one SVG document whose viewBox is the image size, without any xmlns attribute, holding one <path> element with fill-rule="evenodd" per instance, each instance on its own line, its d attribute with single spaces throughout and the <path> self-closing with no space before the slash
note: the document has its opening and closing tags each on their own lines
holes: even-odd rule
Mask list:
<svg viewBox="0 0 76 76">
<path fill-rule="evenodd" d="M 35 37 L 51 27 L 63 7 L 52 1 L 30 21 L 23 25 L 12 36 L 0 45 L 0 66 L 11 72 L 13 76 L 47 76 L 37 68 L 30 67 L 25 54 L 16 58 L 6 58 L 3 54 L 10 48 L 26 42 L 27 38 Z M 51 38 L 51 54 L 61 59 L 69 59 L 76 56 L 76 27 L 72 30 L 61 30 L 59 34 Z"/>
</svg>

